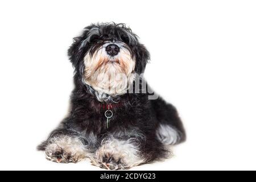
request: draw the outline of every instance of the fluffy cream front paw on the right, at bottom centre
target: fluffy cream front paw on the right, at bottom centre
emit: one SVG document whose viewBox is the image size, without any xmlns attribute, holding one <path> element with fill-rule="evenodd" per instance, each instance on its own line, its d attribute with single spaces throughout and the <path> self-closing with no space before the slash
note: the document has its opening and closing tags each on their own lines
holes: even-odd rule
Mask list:
<svg viewBox="0 0 256 182">
<path fill-rule="evenodd" d="M 102 141 L 92 164 L 105 169 L 128 169 L 143 163 L 138 144 L 131 140 L 109 138 Z"/>
</svg>

